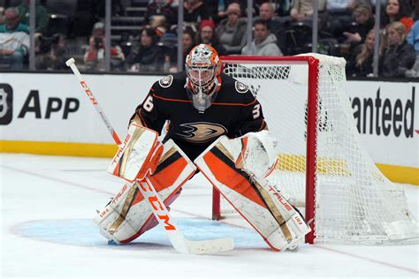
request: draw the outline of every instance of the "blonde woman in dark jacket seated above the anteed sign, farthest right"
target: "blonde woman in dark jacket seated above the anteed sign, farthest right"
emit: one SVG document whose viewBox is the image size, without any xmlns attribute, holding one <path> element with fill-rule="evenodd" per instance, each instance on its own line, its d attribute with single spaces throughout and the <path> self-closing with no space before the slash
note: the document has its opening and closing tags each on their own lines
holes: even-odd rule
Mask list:
<svg viewBox="0 0 419 279">
<path fill-rule="evenodd" d="M 387 46 L 380 59 L 380 74 L 384 77 L 405 77 L 415 64 L 415 49 L 406 41 L 406 27 L 394 21 L 386 27 Z"/>
</svg>

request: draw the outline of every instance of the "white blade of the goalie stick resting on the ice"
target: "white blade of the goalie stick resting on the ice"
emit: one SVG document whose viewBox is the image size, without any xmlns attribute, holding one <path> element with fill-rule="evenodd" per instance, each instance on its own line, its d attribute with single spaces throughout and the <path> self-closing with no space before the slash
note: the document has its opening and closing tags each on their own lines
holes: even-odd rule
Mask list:
<svg viewBox="0 0 419 279">
<path fill-rule="evenodd" d="M 192 254 L 213 254 L 230 251 L 234 248 L 232 238 L 217 238 L 210 240 L 186 240 L 187 250 Z"/>
</svg>

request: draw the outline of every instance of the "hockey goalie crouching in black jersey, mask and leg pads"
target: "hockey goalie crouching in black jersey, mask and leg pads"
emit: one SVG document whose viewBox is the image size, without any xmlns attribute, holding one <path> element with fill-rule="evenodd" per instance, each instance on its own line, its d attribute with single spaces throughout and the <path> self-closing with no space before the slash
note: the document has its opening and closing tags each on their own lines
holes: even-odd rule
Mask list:
<svg viewBox="0 0 419 279">
<path fill-rule="evenodd" d="M 150 88 L 109 171 L 127 181 L 147 176 L 170 206 L 198 168 L 272 249 L 285 251 L 310 229 L 280 185 L 266 179 L 276 166 L 276 144 L 255 96 L 221 72 L 215 49 L 200 44 L 188 54 L 185 72 Z M 103 236 L 116 244 L 158 223 L 136 185 L 126 183 L 95 216 Z"/>
</svg>

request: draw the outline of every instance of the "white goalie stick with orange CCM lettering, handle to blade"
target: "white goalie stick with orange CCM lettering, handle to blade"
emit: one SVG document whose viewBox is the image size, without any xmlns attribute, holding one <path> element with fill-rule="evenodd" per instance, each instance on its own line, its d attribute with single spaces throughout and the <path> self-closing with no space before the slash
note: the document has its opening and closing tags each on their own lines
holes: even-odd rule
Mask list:
<svg viewBox="0 0 419 279">
<path fill-rule="evenodd" d="M 109 119 L 103 112 L 103 109 L 99 106 L 95 99 L 92 91 L 86 84 L 86 81 L 81 76 L 79 69 L 77 68 L 74 58 L 68 59 L 65 64 L 72 69 L 72 72 L 79 79 L 80 86 L 83 88 L 85 93 L 88 95 L 88 99 L 95 106 L 96 111 L 101 116 L 103 123 L 112 135 L 118 146 L 121 145 L 121 140 L 118 138 L 118 134 L 110 124 Z M 156 216 L 158 222 L 163 226 L 166 234 L 171 242 L 171 245 L 179 253 L 192 253 L 192 254 L 209 254 L 230 251 L 234 247 L 232 238 L 217 238 L 210 240 L 189 240 L 184 237 L 183 233 L 179 230 L 179 227 L 171 219 L 169 210 L 164 205 L 164 202 L 158 197 L 156 189 L 151 184 L 148 176 L 142 181 L 136 181 L 134 183 L 144 198 L 149 200 L 149 206 L 151 207 L 153 214 Z"/>
</svg>

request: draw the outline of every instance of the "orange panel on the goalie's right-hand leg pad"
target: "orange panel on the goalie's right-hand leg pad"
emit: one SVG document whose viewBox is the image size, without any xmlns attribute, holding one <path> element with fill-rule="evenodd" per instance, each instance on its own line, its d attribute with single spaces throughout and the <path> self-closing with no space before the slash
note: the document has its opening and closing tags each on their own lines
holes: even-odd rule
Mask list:
<svg viewBox="0 0 419 279">
<path fill-rule="evenodd" d="M 231 188 L 235 192 L 239 192 L 241 195 L 254 201 L 259 206 L 266 208 L 266 205 L 259 197 L 258 192 L 255 191 L 253 186 L 245 177 L 240 175 L 238 170 L 232 169 L 212 152 L 203 155 L 203 160 L 209 166 L 212 174 L 219 182 Z"/>
</svg>

